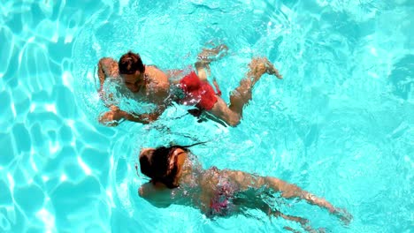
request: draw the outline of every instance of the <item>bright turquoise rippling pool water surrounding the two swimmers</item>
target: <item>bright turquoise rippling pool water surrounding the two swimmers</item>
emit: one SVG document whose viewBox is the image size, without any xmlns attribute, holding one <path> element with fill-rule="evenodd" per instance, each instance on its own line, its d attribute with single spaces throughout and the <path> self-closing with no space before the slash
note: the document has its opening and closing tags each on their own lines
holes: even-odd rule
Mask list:
<svg viewBox="0 0 414 233">
<path fill-rule="evenodd" d="M 0 1 L 0 232 L 283 232 L 251 210 L 211 221 L 137 195 L 141 147 L 190 144 L 204 167 L 280 177 L 353 214 L 280 209 L 328 232 L 414 231 L 414 4 L 410 0 Z M 198 124 L 168 109 L 155 124 L 97 124 L 94 66 L 128 49 L 163 69 L 209 42 L 223 96 L 253 56 L 264 76 L 242 124 Z M 174 119 L 174 120 L 173 120 Z"/>
</svg>

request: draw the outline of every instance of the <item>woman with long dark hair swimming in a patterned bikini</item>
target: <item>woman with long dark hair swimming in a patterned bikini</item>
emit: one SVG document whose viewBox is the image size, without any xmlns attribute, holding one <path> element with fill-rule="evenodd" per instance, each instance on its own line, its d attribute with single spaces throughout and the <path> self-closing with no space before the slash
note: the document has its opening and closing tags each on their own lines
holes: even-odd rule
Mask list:
<svg viewBox="0 0 414 233">
<path fill-rule="evenodd" d="M 298 222 L 304 229 L 312 231 L 306 219 L 282 214 L 262 198 L 280 193 L 280 197 L 285 199 L 304 199 L 311 205 L 326 208 L 343 222 L 347 223 L 352 218 L 344 209 L 334 207 L 326 199 L 275 177 L 259 177 L 216 167 L 203 169 L 188 147 L 144 148 L 139 161 L 142 174 L 150 178 L 149 183 L 142 184 L 139 194 L 156 207 L 171 204 L 192 206 L 211 218 L 256 208 L 265 214 Z"/>
</svg>

